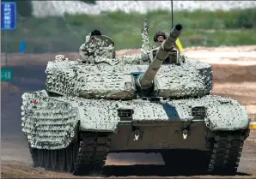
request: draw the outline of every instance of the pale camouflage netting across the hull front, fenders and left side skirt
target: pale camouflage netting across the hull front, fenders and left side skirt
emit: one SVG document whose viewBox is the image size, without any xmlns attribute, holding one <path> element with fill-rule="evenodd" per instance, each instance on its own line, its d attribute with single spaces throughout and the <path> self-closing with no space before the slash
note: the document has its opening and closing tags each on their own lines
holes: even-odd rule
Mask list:
<svg viewBox="0 0 256 179">
<path fill-rule="evenodd" d="M 32 147 L 57 149 L 70 144 L 76 124 L 81 130 L 112 131 L 120 121 L 118 109 L 133 109 L 133 121 L 190 121 L 192 107 L 206 108 L 205 124 L 210 130 L 247 128 L 248 113 L 236 100 L 215 95 L 203 98 L 150 103 L 147 100 L 112 101 L 78 97 L 49 97 L 46 91 L 23 96 L 22 131 Z M 38 104 L 34 104 L 36 101 Z"/>
</svg>

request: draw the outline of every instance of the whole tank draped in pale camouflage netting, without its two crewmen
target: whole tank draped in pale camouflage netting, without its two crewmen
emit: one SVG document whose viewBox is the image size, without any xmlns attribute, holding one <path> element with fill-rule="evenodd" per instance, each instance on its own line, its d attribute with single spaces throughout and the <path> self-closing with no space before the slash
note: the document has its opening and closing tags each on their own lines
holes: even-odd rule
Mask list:
<svg viewBox="0 0 256 179">
<path fill-rule="evenodd" d="M 160 152 L 170 170 L 235 174 L 250 131 L 246 108 L 210 94 L 211 66 L 175 48 L 181 24 L 156 47 L 147 26 L 141 56 L 48 62 L 46 89 L 22 95 L 34 167 L 88 175 L 110 152 Z"/>
</svg>

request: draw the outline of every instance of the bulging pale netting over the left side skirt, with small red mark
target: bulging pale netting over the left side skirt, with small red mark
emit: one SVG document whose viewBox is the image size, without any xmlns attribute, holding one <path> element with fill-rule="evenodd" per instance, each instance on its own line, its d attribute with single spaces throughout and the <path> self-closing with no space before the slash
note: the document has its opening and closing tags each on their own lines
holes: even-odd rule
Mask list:
<svg viewBox="0 0 256 179">
<path fill-rule="evenodd" d="M 31 147 L 59 149 L 69 146 L 80 120 L 76 105 L 48 98 L 46 91 L 22 95 L 21 126 Z"/>
</svg>

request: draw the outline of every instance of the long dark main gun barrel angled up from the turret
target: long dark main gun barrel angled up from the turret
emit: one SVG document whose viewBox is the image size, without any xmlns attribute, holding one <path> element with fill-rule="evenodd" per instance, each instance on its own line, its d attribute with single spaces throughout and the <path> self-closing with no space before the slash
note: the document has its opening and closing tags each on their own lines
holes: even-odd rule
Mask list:
<svg viewBox="0 0 256 179">
<path fill-rule="evenodd" d="M 146 69 L 145 73 L 138 79 L 141 88 L 148 88 L 152 85 L 157 71 L 160 69 L 163 61 L 168 57 L 169 51 L 173 49 L 173 45 L 179 38 L 182 29 L 181 24 L 175 25 L 168 38 L 162 42 L 149 68 Z"/>
</svg>

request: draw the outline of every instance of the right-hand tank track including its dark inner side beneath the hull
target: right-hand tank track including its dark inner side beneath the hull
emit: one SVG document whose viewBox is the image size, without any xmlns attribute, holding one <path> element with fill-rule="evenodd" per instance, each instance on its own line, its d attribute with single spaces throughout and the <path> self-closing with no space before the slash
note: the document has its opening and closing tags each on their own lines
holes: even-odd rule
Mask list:
<svg viewBox="0 0 256 179">
<path fill-rule="evenodd" d="M 214 138 L 207 140 L 208 151 L 165 151 L 162 158 L 172 169 L 235 175 L 248 136 L 249 130 L 216 132 Z"/>
</svg>

